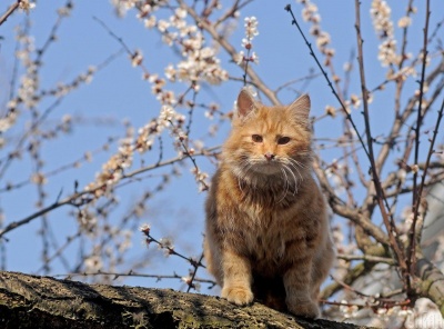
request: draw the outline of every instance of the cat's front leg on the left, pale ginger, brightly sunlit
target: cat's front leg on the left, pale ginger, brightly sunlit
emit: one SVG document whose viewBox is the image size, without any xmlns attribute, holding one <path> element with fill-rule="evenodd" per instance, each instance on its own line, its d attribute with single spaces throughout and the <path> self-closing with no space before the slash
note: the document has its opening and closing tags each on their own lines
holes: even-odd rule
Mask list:
<svg viewBox="0 0 444 329">
<path fill-rule="evenodd" d="M 222 257 L 223 287 L 221 296 L 235 305 L 244 306 L 253 301 L 251 291 L 252 273 L 250 261 L 233 251 L 224 251 Z"/>
</svg>

